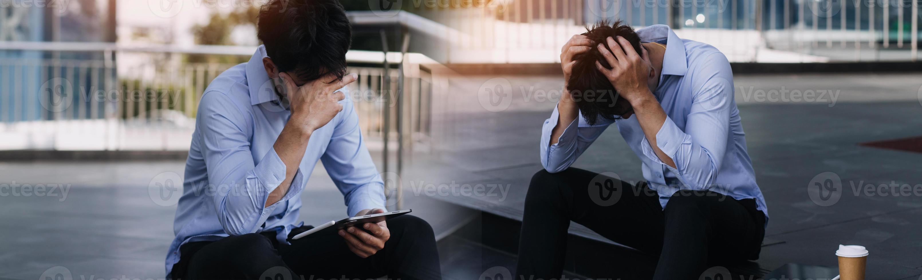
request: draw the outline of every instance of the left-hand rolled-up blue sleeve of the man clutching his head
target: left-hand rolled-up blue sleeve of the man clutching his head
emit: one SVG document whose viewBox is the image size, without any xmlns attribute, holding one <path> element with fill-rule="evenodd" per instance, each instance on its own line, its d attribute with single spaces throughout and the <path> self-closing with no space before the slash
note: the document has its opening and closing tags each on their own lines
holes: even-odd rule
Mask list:
<svg viewBox="0 0 922 280">
<path fill-rule="evenodd" d="M 585 149 L 596 141 L 598 135 L 605 132 L 605 129 L 614 122 L 599 117 L 596 124 L 589 125 L 582 114 L 578 115 L 576 120 L 567 125 L 554 145 L 550 145 L 550 138 L 557 122 L 560 121 L 560 111 L 557 111 L 557 106 L 554 106 L 554 111 L 550 113 L 550 119 L 544 121 L 541 127 L 541 166 L 548 172 L 560 172 L 573 165 L 576 158 L 582 155 Z"/>
</svg>

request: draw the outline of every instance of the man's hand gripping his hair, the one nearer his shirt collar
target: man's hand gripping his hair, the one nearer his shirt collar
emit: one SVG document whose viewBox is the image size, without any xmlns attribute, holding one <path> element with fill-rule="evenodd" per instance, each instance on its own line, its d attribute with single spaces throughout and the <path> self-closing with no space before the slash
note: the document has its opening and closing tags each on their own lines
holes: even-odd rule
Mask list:
<svg viewBox="0 0 922 280">
<path fill-rule="evenodd" d="M 609 78 L 611 85 L 618 90 L 622 98 L 627 99 L 632 104 L 642 99 L 652 97 L 650 87 L 647 86 L 647 77 L 650 74 L 651 65 L 641 54 L 634 51 L 631 42 L 621 36 L 618 39 L 611 37 L 606 39 L 609 48 L 599 43 L 598 52 L 602 53 L 605 60 L 611 65 L 611 69 L 596 62 L 596 68 L 603 75 Z M 609 52 L 611 49 L 611 52 Z M 644 52 L 645 53 L 645 52 Z"/>
</svg>

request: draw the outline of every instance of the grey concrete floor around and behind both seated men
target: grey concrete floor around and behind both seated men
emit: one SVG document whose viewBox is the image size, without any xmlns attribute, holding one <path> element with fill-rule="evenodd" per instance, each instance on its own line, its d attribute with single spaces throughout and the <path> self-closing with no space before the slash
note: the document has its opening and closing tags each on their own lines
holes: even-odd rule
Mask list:
<svg viewBox="0 0 922 280">
<path fill-rule="evenodd" d="M 435 198 L 521 216 L 528 179 L 540 169 L 540 125 L 554 106 L 554 100 L 534 99 L 539 94 L 531 93 L 560 88 L 561 82 L 553 76 L 491 78 L 453 79 L 445 99 L 433 108 L 439 118 L 433 122 L 431 149 L 409 157 L 402 177 L 407 201 L 418 201 L 414 211 L 434 214 L 454 207 L 428 200 Z M 509 106 L 488 111 L 495 108 L 472 93 L 503 80 L 513 90 Z M 869 279 L 918 279 L 922 197 L 855 194 L 851 186 L 922 184 L 922 154 L 857 146 L 922 134 L 922 75 L 737 76 L 735 82 L 750 156 L 771 215 L 766 239 L 777 243 L 763 247 L 762 268 L 787 262 L 835 266 L 835 247 L 845 243 L 869 248 Z M 773 89 L 838 93 L 834 103 L 828 94 L 825 100 L 772 101 L 767 97 Z M 759 90 L 766 99 L 759 98 Z M 615 129 L 574 167 L 642 179 L 638 159 Z M 44 196 L 0 195 L 0 279 L 36 279 L 58 266 L 81 280 L 163 277 L 175 206 L 156 204 L 148 184 L 170 171 L 183 174 L 183 162 L 0 163 L 0 184 L 71 187 Z M 839 176 L 844 192 L 838 203 L 821 206 L 807 190 L 827 171 Z M 443 183 L 483 183 L 487 190 L 438 192 Z M 302 215 L 308 224 L 345 215 L 323 169 L 315 169 L 301 195 L 305 207 L 325 209 Z M 445 230 L 453 226 L 437 216 L 425 218 Z M 592 235 L 578 225 L 572 229 Z"/>
</svg>

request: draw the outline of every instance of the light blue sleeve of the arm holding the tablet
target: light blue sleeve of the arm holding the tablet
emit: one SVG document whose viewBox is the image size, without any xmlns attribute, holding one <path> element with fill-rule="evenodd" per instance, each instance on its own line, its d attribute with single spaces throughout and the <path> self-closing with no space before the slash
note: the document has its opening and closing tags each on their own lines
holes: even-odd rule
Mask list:
<svg viewBox="0 0 922 280">
<path fill-rule="evenodd" d="M 343 193 L 349 216 L 355 216 L 363 209 L 385 209 L 384 181 L 374 166 L 372 156 L 365 147 L 359 125 L 359 115 L 349 99 L 339 101 L 343 111 L 338 120 L 327 125 L 336 125 L 330 137 L 329 146 L 323 157 L 326 172 Z"/>
</svg>

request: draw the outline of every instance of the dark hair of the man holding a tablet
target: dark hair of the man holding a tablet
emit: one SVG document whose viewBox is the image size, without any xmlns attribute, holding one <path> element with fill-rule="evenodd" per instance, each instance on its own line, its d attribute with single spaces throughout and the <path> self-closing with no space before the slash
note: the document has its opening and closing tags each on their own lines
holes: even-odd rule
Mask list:
<svg viewBox="0 0 922 280">
<path fill-rule="evenodd" d="M 259 9 L 256 36 L 279 72 L 303 81 L 346 75 L 352 30 L 337 0 L 271 0 Z"/>
</svg>

